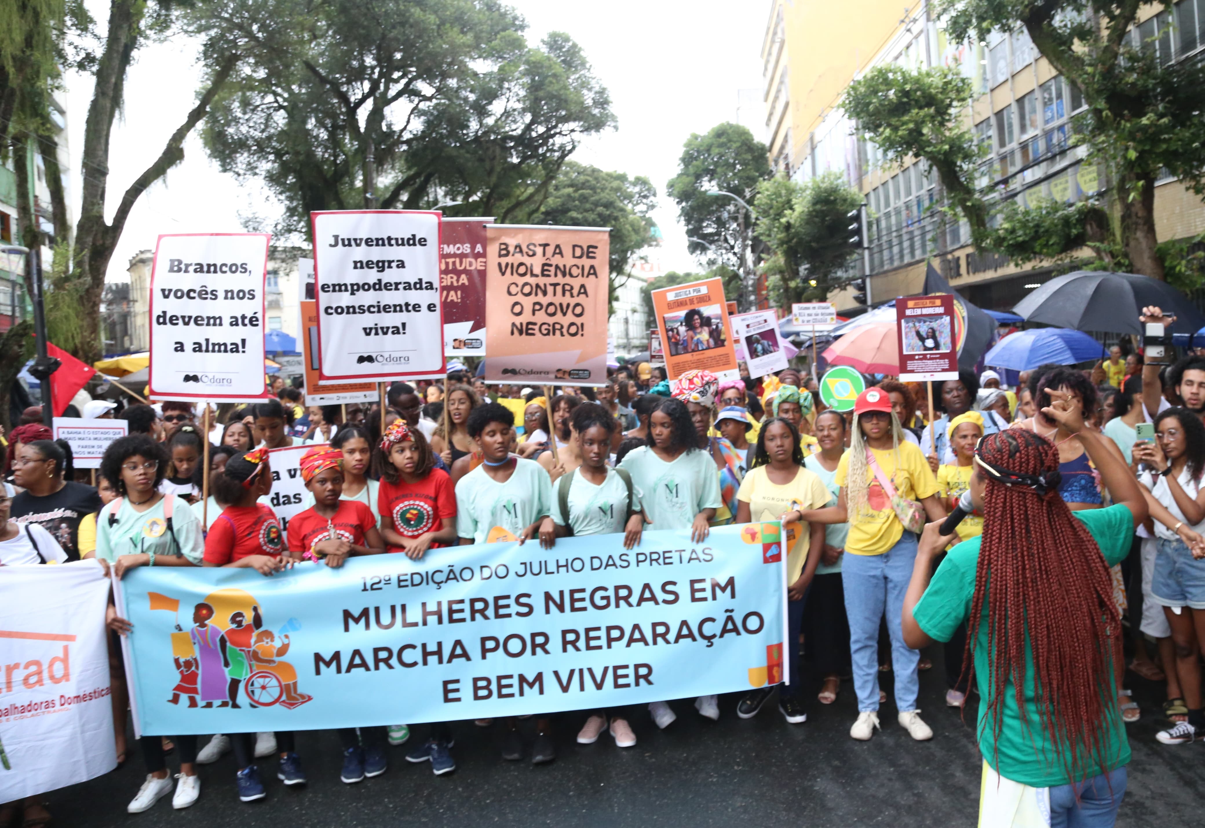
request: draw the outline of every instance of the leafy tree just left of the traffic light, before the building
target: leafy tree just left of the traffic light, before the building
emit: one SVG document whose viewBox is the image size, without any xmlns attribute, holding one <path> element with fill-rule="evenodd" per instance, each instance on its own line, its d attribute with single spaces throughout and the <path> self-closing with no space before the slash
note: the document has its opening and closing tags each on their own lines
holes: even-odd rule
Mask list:
<svg viewBox="0 0 1205 828">
<path fill-rule="evenodd" d="M 837 274 L 862 243 L 850 229 L 850 213 L 862 200 L 839 172 L 804 184 L 770 178 L 758 186 L 757 234 L 774 251 L 764 268 L 772 305 L 823 300 L 845 283 Z"/>
</svg>

